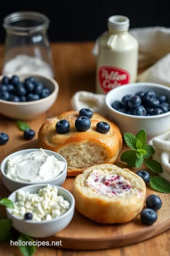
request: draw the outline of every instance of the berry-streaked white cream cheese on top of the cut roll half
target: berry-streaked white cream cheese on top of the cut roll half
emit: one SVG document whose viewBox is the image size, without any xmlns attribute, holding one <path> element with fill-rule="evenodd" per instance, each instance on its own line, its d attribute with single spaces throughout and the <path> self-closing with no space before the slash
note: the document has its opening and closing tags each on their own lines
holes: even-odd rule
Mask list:
<svg viewBox="0 0 170 256">
<path fill-rule="evenodd" d="M 94 170 L 85 181 L 93 191 L 107 196 L 124 196 L 131 191 L 131 185 L 128 180 L 119 174 L 103 174 Z"/>
</svg>

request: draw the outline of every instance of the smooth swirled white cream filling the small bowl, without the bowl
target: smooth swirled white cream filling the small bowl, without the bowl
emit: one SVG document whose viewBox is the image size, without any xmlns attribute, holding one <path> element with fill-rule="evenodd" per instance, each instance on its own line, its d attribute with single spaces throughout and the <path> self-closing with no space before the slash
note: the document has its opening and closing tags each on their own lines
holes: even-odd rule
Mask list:
<svg viewBox="0 0 170 256">
<path fill-rule="evenodd" d="M 47 155 L 42 148 L 26 155 L 8 159 L 7 176 L 20 182 L 49 181 L 64 170 L 65 163 L 54 155 Z"/>
</svg>

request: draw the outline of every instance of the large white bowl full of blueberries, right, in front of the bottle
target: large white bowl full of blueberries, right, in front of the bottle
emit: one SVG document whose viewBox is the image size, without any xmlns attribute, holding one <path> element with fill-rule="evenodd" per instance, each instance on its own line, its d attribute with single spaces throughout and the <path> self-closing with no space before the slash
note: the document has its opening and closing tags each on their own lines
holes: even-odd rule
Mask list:
<svg viewBox="0 0 170 256">
<path fill-rule="evenodd" d="M 136 134 L 145 129 L 148 139 L 170 129 L 170 88 L 136 82 L 109 91 L 105 98 L 108 117 L 121 133 Z"/>
</svg>

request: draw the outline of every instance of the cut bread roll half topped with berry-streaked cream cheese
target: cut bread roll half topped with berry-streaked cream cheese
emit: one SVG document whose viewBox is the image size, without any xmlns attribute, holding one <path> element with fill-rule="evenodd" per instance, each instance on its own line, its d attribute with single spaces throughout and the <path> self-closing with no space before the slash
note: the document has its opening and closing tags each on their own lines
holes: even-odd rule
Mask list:
<svg viewBox="0 0 170 256">
<path fill-rule="evenodd" d="M 146 186 L 141 177 L 116 165 L 86 169 L 73 183 L 76 209 L 98 223 L 125 223 L 144 207 Z"/>
</svg>

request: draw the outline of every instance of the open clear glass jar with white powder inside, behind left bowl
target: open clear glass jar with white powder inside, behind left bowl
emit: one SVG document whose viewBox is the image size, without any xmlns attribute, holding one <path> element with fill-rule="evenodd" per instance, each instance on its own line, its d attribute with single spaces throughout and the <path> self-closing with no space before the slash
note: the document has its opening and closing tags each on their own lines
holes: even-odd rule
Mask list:
<svg viewBox="0 0 170 256">
<path fill-rule="evenodd" d="M 35 73 L 54 77 L 47 29 L 50 20 L 38 12 L 14 12 L 4 18 L 3 74 Z"/>
</svg>

